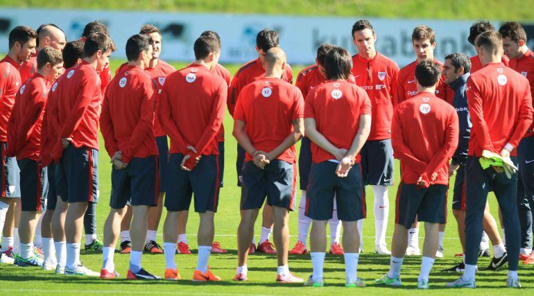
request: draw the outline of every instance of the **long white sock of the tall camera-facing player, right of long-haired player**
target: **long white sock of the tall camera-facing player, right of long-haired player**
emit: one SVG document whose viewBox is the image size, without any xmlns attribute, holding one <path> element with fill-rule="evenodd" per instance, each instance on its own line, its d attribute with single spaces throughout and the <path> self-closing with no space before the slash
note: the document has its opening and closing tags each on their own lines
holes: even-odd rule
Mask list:
<svg viewBox="0 0 534 296">
<path fill-rule="evenodd" d="M 372 191 L 374 193 L 374 245 L 386 245 L 389 218 L 388 186 L 373 185 Z"/>
</svg>

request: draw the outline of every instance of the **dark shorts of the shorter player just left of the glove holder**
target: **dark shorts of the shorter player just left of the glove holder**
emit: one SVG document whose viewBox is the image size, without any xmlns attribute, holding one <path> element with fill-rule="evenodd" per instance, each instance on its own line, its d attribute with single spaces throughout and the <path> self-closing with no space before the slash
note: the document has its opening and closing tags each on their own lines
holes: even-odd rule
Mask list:
<svg viewBox="0 0 534 296">
<path fill-rule="evenodd" d="M 401 182 L 395 205 L 395 223 L 408 229 L 415 222 L 416 216 L 420 222 L 445 223 L 447 185 L 436 184 L 429 188 L 419 188 L 415 184 Z"/>
</svg>

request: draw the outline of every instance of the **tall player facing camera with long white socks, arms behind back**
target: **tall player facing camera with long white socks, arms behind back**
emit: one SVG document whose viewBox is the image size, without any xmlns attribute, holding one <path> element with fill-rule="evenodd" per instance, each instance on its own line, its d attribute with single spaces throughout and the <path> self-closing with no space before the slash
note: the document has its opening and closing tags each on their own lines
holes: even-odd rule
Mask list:
<svg viewBox="0 0 534 296">
<path fill-rule="evenodd" d="M 388 186 L 393 185 L 393 148 L 391 148 L 391 117 L 393 87 L 399 66 L 385 55 L 377 53 L 377 35 L 366 19 L 352 26 L 352 42 L 358 53 L 352 56 L 352 74 L 369 95 L 372 103 L 371 132 L 361 149 L 363 185 L 371 185 L 374 194 L 374 251 L 391 254 L 386 245 L 389 198 Z M 363 191 L 365 192 L 365 191 Z M 363 246 L 363 219 L 359 220 L 360 246 Z"/>
</svg>

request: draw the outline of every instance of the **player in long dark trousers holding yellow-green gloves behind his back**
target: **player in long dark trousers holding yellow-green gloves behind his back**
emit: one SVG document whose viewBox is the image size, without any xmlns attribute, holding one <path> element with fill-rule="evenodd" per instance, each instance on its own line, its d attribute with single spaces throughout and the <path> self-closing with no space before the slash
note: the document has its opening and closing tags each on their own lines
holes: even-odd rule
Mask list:
<svg viewBox="0 0 534 296">
<path fill-rule="evenodd" d="M 465 271 L 452 287 L 475 287 L 476 261 L 482 235 L 483 212 L 491 188 L 499 202 L 506 229 L 508 287 L 520 287 L 517 275 L 520 225 L 517 214 L 517 174 L 503 172 L 483 152 L 500 155 L 517 166 L 517 145 L 532 124 L 528 80 L 501 62 L 501 34 L 486 31 L 475 41 L 483 69 L 467 80 L 467 105 L 472 132 L 465 164 Z M 502 163 L 501 163 L 502 164 Z M 483 165 L 486 168 L 483 168 Z M 513 198 L 510 198 L 513 197 Z"/>
</svg>

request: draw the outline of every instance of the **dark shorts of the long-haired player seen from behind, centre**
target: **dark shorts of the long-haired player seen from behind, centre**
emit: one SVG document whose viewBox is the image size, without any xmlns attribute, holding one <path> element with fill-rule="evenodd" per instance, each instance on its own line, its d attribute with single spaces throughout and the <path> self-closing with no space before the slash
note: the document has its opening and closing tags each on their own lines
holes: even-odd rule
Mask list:
<svg viewBox="0 0 534 296">
<path fill-rule="evenodd" d="M 306 193 L 306 216 L 313 220 L 330 220 L 337 202 L 339 220 L 356 221 L 365 218 L 365 198 L 361 182 L 361 166 L 354 164 L 347 177 L 336 175 L 337 162 L 311 165 Z"/>
</svg>

